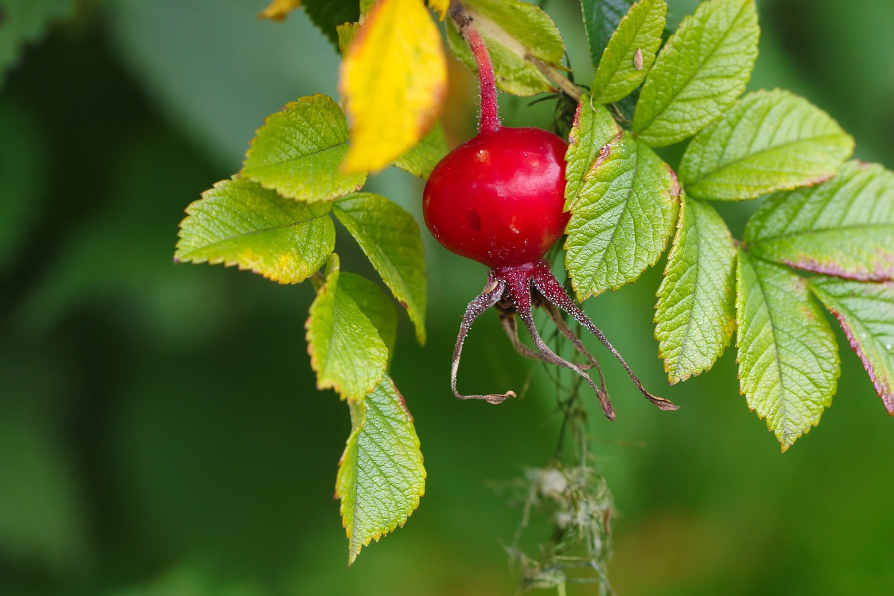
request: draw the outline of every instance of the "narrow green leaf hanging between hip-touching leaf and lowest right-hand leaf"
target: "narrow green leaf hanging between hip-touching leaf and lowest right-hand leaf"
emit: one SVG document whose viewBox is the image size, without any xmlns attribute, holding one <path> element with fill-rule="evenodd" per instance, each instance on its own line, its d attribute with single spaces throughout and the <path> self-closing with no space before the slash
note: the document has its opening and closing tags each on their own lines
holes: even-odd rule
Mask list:
<svg viewBox="0 0 894 596">
<path fill-rule="evenodd" d="M 736 326 L 736 249 L 708 205 L 684 196 L 655 305 L 658 354 L 671 384 L 709 370 Z"/>
</svg>

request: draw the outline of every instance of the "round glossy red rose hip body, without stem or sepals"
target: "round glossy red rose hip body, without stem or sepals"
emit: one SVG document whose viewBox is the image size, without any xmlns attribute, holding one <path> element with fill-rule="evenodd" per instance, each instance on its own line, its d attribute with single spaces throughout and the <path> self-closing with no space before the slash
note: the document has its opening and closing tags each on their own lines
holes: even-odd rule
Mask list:
<svg viewBox="0 0 894 596">
<path fill-rule="evenodd" d="M 539 128 L 479 133 L 428 177 L 423 214 L 449 251 L 490 268 L 535 262 L 568 224 L 565 149 Z"/>
</svg>

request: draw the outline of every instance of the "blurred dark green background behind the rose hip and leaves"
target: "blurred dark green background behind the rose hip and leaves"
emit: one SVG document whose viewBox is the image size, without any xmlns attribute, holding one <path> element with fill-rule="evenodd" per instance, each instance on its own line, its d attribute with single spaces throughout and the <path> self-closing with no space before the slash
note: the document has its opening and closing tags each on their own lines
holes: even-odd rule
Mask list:
<svg viewBox="0 0 894 596">
<path fill-rule="evenodd" d="M 52 26 L 39 19 L 50 5 Z M 451 397 L 460 315 L 485 270 L 426 236 L 429 344 L 401 323 L 392 376 L 415 416 L 426 497 L 407 526 L 346 568 L 333 500 L 347 407 L 318 393 L 303 324 L 309 285 L 174 266 L 183 209 L 240 167 L 266 115 L 336 95 L 338 56 L 265 0 L 0 0 L 0 594 L 509 594 L 502 543 L 519 511 L 488 481 L 552 456 L 554 389 L 493 314 L 467 343 L 460 385 L 519 388 L 494 407 Z M 670 1 L 671 22 L 693 0 Z M 592 77 L 578 4 L 548 12 L 578 81 Z M 894 3 L 763 0 L 753 88 L 792 89 L 894 166 Z M 34 13 L 29 13 L 34 11 Z M 20 23 L 21 24 L 21 23 Z M 5 29 L 5 30 L 4 30 Z M 472 134 L 475 89 L 451 67 L 451 141 Z M 508 123 L 552 103 L 502 97 Z M 371 190 L 419 213 L 398 171 Z M 723 206 L 740 232 L 753 204 Z M 340 231 L 342 262 L 362 254 Z M 738 396 L 734 354 L 667 387 L 652 338 L 662 264 L 586 304 L 662 413 L 607 359 L 618 421 L 593 400 L 594 452 L 614 492 L 620 594 L 894 591 L 894 427 L 842 352 L 819 428 L 780 456 Z M 847 345 L 839 334 L 839 345 Z M 604 356 L 603 351 L 596 350 Z M 585 592 L 578 592 L 585 593 Z"/>
</svg>

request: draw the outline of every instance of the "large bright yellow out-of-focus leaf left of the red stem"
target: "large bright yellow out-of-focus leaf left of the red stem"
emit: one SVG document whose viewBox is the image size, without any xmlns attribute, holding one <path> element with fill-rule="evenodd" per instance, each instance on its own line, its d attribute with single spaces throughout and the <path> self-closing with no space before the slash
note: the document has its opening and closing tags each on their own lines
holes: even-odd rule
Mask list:
<svg viewBox="0 0 894 596">
<path fill-rule="evenodd" d="M 352 123 L 345 172 L 377 171 L 434 125 L 447 89 L 441 34 L 422 0 L 380 0 L 357 30 L 339 87 Z"/>
</svg>

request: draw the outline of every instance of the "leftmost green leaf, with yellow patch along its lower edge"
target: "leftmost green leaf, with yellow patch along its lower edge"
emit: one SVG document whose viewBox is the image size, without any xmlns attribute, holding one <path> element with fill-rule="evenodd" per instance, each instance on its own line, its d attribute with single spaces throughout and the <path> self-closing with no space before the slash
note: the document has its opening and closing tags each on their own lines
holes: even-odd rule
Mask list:
<svg viewBox="0 0 894 596">
<path fill-rule="evenodd" d="M 186 208 L 174 260 L 236 265 L 281 284 L 304 281 L 335 247 L 330 203 L 283 199 L 244 178 L 224 180 Z"/>
</svg>

